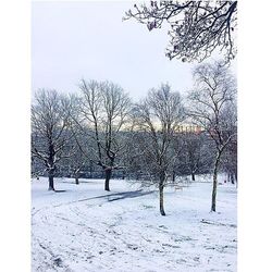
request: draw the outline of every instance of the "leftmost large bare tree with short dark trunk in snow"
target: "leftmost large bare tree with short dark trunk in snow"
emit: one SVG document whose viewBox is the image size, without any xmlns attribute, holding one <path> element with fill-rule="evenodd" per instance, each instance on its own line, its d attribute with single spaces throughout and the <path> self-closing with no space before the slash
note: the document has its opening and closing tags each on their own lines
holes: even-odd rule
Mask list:
<svg viewBox="0 0 272 272">
<path fill-rule="evenodd" d="M 72 152 L 65 150 L 71 139 L 70 101 L 55 90 L 41 89 L 32 106 L 32 154 L 44 162 L 49 176 L 49 190 L 59 161 Z"/>
</svg>

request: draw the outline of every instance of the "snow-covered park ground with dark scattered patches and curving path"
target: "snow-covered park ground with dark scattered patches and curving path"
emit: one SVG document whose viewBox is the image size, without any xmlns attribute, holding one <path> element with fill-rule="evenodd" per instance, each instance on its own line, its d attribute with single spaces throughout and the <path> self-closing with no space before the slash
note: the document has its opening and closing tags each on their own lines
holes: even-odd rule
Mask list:
<svg viewBox="0 0 272 272">
<path fill-rule="evenodd" d="M 32 182 L 33 271 L 236 271 L 234 185 L 219 185 L 210 213 L 211 183 L 158 191 L 125 181 L 47 178 Z"/>
</svg>

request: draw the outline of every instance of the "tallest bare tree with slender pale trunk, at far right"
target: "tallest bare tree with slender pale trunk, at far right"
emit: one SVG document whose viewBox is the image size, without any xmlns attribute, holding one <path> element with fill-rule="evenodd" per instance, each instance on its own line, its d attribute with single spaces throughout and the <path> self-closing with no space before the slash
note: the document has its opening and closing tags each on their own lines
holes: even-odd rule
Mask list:
<svg viewBox="0 0 272 272">
<path fill-rule="evenodd" d="M 215 211 L 221 157 L 236 135 L 236 82 L 222 62 L 199 65 L 194 77 L 196 86 L 189 95 L 188 113 L 205 128 L 217 148 L 211 202 L 211 211 Z"/>
</svg>

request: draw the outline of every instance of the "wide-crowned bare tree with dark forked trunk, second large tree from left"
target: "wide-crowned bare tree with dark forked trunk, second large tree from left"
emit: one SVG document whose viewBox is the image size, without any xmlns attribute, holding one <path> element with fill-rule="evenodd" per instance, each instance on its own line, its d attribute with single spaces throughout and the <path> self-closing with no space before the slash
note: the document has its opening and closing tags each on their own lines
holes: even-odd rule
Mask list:
<svg viewBox="0 0 272 272">
<path fill-rule="evenodd" d="M 119 85 L 110 82 L 83 79 L 79 88 L 82 96 L 76 122 L 90 143 L 91 156 L 87 156 L 103 169 L 104 189 L 110 190 L 112 171 L 123 168 L 118 161 L 126 141 L 120 135 L 128 128 L 131 99 Z"/>
</svg>

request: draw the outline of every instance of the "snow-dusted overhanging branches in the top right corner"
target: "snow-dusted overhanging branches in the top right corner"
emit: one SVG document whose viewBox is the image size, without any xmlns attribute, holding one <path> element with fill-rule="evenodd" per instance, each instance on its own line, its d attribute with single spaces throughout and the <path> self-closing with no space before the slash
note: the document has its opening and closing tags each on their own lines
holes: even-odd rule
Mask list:
<svg viewBox="0 0 272 272">
<path fill-rule="evenodd" d="M 182 61 L 202 61 L 217 48 L 227 61 L 236 54 L 237 1 L 150 1 L 134 4 L 124 20 L 136 18 L 149 30 L 171 26 L 166 57 Z"/>
</svg>

